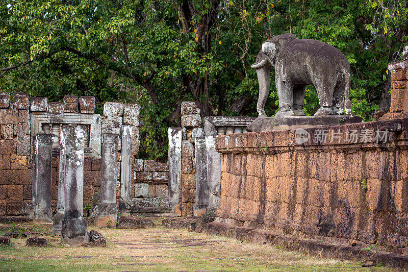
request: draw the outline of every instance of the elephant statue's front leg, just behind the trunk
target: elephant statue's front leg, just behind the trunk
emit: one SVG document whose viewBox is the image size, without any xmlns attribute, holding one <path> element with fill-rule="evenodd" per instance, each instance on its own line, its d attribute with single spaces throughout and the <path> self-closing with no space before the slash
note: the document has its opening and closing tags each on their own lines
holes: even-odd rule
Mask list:
<svg viewBox="0 0 408 272">
<path fill-rule="evenodd" d="M 276 75 L 275 79 L 277 95 L 279 97 L 279 111 L 275 117 L 284 117 L 295 115 L 292 111 L 293 105 L 293 86 L 282 80 L 282 75 Z"/>
</svg>

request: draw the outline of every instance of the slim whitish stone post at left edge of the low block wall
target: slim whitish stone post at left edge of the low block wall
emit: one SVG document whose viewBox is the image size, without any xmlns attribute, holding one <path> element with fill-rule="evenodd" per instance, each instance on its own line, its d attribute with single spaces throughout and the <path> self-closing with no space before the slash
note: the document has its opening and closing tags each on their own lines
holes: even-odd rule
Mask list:
<svg viewBox="0 0 408 272">
<path fill-rule="evenodd" d="M 132 201 L 132 126 L 121 127 L 122 155 L 120 167 L 120 201 L 119 208 L 127 210 Z"/>
</svg>

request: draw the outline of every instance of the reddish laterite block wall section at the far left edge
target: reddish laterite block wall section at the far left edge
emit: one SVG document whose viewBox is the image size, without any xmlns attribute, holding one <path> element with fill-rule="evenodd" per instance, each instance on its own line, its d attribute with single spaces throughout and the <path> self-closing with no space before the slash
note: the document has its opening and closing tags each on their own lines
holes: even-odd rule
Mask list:
<svg viewBox="0 0 408 272">
<path fill-rule="evenodd" d="M 30 212 L 32 163 L 29 96 L 0 93 L 0 216 Z"/>
</svg>

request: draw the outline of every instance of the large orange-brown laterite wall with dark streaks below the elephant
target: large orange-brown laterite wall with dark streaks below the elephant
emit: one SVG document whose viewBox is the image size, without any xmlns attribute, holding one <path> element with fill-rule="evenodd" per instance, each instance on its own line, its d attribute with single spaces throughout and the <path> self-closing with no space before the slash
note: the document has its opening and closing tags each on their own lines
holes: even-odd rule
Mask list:
<svg viewBox="0 0 408 272">
<path fill-rule="evenodd" d="M 314 142 L 322 130 L 327 139 Z M 306 131 L 311 138 L 303 144 L 294 130 L 217 137 L 222 180 L 216 221 L 407 247 L 408 119 Z M 369 136 L 350 142 L 350 131 Z M 377 131 L 388 133 L 387 142 L 377 142 Z"/>
</svg>

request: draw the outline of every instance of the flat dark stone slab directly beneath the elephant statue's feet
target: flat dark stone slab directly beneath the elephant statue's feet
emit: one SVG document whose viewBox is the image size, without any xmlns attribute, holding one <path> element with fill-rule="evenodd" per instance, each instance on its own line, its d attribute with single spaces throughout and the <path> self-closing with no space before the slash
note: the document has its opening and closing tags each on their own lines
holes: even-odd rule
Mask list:
<svg viewBox="0 0 408 272">
<path fill-rule="evenodd" d="M 259 117 L 247 128 L 248 132 L 273 131 L 287 129 L 308 129 L 315 127 L 334 127 L 350 123 L 363 122 L 363 118 L 353 115 L 325 115 L 325 116 L 286 116 Z"/>
</svg>

